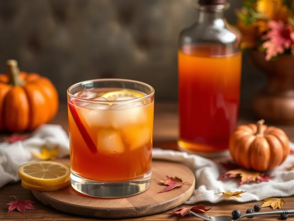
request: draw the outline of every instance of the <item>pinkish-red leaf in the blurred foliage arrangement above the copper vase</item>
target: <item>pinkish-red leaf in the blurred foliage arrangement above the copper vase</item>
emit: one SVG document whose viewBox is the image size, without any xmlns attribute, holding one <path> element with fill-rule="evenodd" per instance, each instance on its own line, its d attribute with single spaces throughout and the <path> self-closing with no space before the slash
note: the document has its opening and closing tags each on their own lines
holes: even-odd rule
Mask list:
<svg viewBox="0 0 294 221">
<path fill-rule="evenodd" d="M 266 48 L 265 60 L 269 61 L 272 57 L 278 54 L 283 54 L 286 49 L 290 48 L 293 44 L 291 39 L 291 30 L 286 27 L 283 22 L 269 21 L 268 26 L 271 28 L 263 37 L 263 40 L 267 40 L 263 43 L 263 47 Z"/>
</svg>

